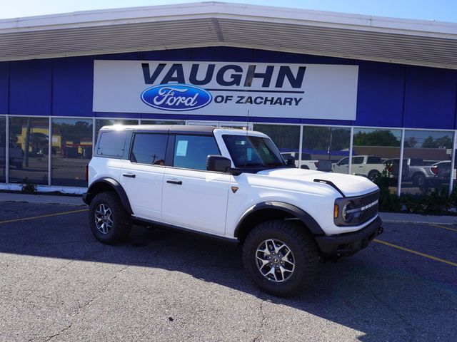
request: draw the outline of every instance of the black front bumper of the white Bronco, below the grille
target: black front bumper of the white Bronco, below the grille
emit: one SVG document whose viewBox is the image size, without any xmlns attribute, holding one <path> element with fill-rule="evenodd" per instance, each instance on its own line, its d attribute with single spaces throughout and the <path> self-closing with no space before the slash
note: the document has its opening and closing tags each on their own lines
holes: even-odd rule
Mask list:
<svg viewBox="0 0 457 342">
<path fill-rule="evenodd" d="M 372 239 L 383 232 L 382 220 L 380 217 L 357 232 L 338 235 L 317 236 L 316 242 L 324 256 L 343 257 L 351 255 L 368 246 Z"/>
</svg>

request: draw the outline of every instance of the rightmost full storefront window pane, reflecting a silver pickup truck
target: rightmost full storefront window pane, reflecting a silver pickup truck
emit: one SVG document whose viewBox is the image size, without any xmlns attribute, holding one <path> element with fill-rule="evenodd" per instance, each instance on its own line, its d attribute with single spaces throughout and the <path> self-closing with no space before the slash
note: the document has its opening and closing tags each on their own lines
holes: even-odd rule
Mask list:
<svg viewBox="0 0 457 342">
<path fill-rule="evenodd" d="M 403 150 L 403 194 L 428 193 L 449 186 L 453 133 L 406 130 Z M 406 175 L 405 175 L 406 173 Z"/>
</svg>

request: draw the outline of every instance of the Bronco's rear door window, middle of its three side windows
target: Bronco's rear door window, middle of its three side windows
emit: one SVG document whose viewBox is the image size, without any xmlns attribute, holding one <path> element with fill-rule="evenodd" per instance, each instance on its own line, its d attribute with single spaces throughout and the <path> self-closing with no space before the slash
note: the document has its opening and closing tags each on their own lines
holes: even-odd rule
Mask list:
<svg viewBox="0 0 457 342">
<path fill-rule="evenodd" d="M 130 154 L 131 162 L 164 165 L 168 138 L 167 134 L 136 133 Z"/>
</svg>

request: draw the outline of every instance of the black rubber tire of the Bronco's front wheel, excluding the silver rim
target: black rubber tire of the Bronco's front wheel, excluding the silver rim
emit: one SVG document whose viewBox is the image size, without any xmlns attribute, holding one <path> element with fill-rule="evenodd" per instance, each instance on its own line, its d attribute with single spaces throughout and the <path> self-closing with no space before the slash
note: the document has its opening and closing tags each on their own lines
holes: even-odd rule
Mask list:
<svg viewBox="0 0 457 342">
<path fill-rule="evenodd" d="M 293 253 L 295 269 L 281 282 L 268 280 L 257 264 L 260 244 L 277 239 Z M 272 220 L 258 224 L 249 232 L 243 244 L 243 266 L 246 274 L 259 289 L 278 297 L 293 296 L 311 284 L 318 271 L 318 247 L 305 227 L 292 221 Z"/>
</svg>

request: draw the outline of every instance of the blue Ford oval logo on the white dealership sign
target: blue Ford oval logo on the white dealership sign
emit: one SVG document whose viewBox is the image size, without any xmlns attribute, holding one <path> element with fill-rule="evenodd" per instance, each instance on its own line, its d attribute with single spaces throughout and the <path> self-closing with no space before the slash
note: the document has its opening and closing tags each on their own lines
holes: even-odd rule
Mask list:
<svg viewBox="0 0 457 342">
<path fill-rule="evenodd" d="M 141 93 L 146 105 L 161 110 L 194 110 L 209 105 L 213 97 L 203 88 L 189 84 L 159 84 Z"/>
</svg>

